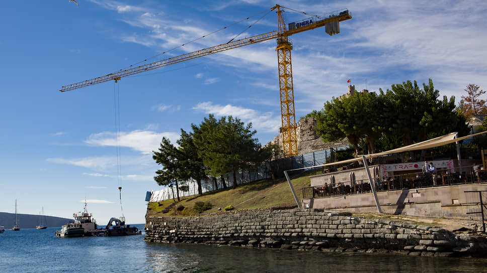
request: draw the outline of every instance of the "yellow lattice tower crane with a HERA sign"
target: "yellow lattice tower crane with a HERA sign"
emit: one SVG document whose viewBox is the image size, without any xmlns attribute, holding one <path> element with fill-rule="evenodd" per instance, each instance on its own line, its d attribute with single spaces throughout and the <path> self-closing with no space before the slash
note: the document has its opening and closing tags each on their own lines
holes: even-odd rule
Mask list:
<svg viewBox="0 0 487 273">
<path fill-rule="evenodd" d="M 288 37 L 312 30 L 315 28 L 325 27 L 325 31 L 329 35 L 340 33 L 340 23 L 348 19 L 352 19 L 352 15 L 348 10 L 340 12 L 338 15 L 330 15 L 328 18 L 322 18 L 314 16 L 311 19 L 289 23 L 286 27 L 286 23 L 282 17 L 283 13 L 282 6 L 276 5 L 271 11 L 277 10 L 278 18 L 278 31 L 272 31 L 252 37 L 247 37 L 241 40 L 230 41 L 226 44 L 221 44 L 218 46 L 201 49 L 191 53 L 183 54 L 173 58 L 168 58 L 153 62 L 150 64 L 145 64 L 126 70 L 120 70 L 116 73 L 111 73 L 106 76 L 81 81 L 69 85 L 63 86 L 59 91 L 65 92 L 73 89 L 82 88 L 85 86 L 90 86 L 106 81 L 115 80 L 119 81 L 122 77 L 131 76 L 134 74 L 142 73 L 145 71 L 153 70 L 159 67 L 164 67 L 176 63 L 181 63 L 184 61 L 196 59 L 203 56 L 208 56 L 218 52 L 230 50 L 233 48 L 243 47 L 263 41 L 268 41 L 271 39 L 277 39 L 277 59 L 279 66 L 279 91 L 281 97 L 281 121 L 282 121 L 282 143 L 283 152 L 285 157 L 297 155 L 297 138 L 296 138 L 296 118 L 294 115 L 294 91 L 292 83 L 292 65 L 291 65 L 291 50 L 292 44 L 289 42 Z M 285 8 L 288 9 L 288 8 Z M 292 9 L 288 9 L 292 10 Z M 294 10 L 292 10 L 294 11 Z"/>
</svg>

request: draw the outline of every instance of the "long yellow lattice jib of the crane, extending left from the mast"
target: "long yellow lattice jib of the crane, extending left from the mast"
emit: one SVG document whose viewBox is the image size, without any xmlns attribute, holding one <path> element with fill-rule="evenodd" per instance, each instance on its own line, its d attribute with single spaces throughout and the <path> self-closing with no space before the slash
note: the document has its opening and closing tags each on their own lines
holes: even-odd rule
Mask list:
<svg viewBox="0 0 487 273">
<path fill-rule="evenodd" d="M 141 66 L 137 66 L 134 68 L 126 69 L 126 70 L 119 71 L 116 73 L 108 74 L 106 76 L 102 76 L 102 77 L 98 77 L 98 78 L 94 78 L 94 79 L 90 79 L 90 80 L 86 80 L 86 81 L 82 81 L 82 82 L 77 82 L 77 83 L 65 85 L 59 91 L 65 92 L 65 91 L 69 91 L 69 90 L 73 90 L 73 89 L 77 89 L 77 88 L 82 88 L 85 86 L 90 86 L 90 85 L 94 85 L 94 84 L 98 84 L 98 83 L 102 83 L 102 82 L 106 82 L 106 81 L 111 81 L 111 80 L 117 81 L 117 80 L 120 80 L 120 78 L 122 78 L 122 77 L 127 77 L 127 76 L 131 76 L 131 75 L 138 74 L 141 72 L 145 72 L 148 70 L 153 70 L 156 68 L 160 68 L 160 67 L 164 67 L 164 66 L 184 62 L 184 61 L 188 61 L 191 59 L 196 59 L 198 57 L 208 56 L 211 54 L 215 54 L 218 52 L 226 51 L 226 50 L 237 48 L 237 47 L 242 47 L 242 46 L 255 44 L 255 43 L 259 43 L 259 42 L 263 42 L 263 41 L 267 41 L 267 40 L 271 40 L 271 39 L 276 39 L 277 37 L 278 37 L 278 33 L 276 31 L 272 31 L 272 32 L 252 36 L 252 37 L 247 37 L 244 39 L 231 41 L 231 42 L 228 42 L 226 44 L 221 44 L 218 46 L 214 46 L 214 47 L 210 47 L 210 48 L 206 48 L 206 49 L 201 49 L 198 51 L 183 54 L 183 55 L 176 56 L 173 58 L 168 58 L 168 59 L 153 62 L 150 64 L 141 65 Z"/>
</svg>

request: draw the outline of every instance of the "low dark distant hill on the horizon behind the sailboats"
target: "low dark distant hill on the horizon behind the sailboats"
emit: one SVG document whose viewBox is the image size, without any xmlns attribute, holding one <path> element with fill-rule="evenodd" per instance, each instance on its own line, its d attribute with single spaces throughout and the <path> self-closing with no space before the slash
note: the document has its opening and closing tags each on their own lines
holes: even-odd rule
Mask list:
<svg viewBox="0 0 487 273">
<path fill-rule="evenodd" d="M 5 226 L 5 229 L 11 229 L 14 227 L 14 217 L 13 213 L 0 212 L 0 226 Z M 44 225 L 47 227 L 59 227 L 69 223 L 73 219 L 54 217 L 54 216 L 44 216 Z M 17 222 L 19 227 L 22 228 L 35 228 L 39 225 L 39 215 L 33 214 L 20 214 L 17 213 Z"/>
</svg>

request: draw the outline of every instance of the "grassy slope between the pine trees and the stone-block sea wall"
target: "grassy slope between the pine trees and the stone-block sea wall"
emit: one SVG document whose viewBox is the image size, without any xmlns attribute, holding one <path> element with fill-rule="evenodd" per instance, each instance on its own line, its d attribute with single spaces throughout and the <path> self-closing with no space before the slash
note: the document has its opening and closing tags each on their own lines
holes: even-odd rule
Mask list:
<svg viewBox="0 0 487 273">
<path fill-rule="evenodd" d="M 298 199 L 301 199 L 301 188 L 310 186 L 309 176 L 313 174 L 305 172 L 291 177 L 291 183 Z M 175 215 L 174 209 L 171 209 L 168 213 L 161 213 L 173 202 L 173 199 L 151 202 L 147 207 L 147 215 Z M 188 215 L 188 210 L 192 209 L 196 202 L 210 203 L 212 205 L 211 209 L 204 211 L 205 213 L 217 212 L 218 208 L 223 210 L 223 208 L 230 205 L 237 210 L 296 206 L 289 184 L 284 178 L 276 179 L 275 181 L 265 179 L 240 185 L 236 189 L 224 189 L 205 193 L 202 196 L 189 197 L 178 202 L 177 205 L 184 206 L 186 208 L 185 213 Z"/>
</svg>

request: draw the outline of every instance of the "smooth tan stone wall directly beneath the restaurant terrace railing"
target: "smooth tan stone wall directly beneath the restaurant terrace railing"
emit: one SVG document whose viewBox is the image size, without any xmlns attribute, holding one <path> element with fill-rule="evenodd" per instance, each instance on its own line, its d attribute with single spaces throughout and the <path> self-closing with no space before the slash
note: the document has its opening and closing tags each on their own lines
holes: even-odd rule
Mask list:
<svg viewBox="0 0 487 273">
<path fill-rule="evenodd" d="M 487 184 L 461 184 L 434 188 L 406 189 L 377 193 L 382 212 L 422 217 L 480 219 L 478 193 L 465 191 L 487 190 Z M 483 194 L 487 203 L 487 194 Z M 340 209 L 355 212 L 377 212 L 372 193 L 303 199 L 303 207 Z"/>
</svg>

